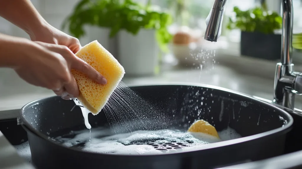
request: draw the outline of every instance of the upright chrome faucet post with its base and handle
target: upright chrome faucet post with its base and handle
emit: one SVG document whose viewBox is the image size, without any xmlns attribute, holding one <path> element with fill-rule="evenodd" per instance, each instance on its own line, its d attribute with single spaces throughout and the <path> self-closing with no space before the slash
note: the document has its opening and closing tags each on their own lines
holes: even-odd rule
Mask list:
<svg viewBox="0 0 302 169">
<path fill-rule="evenodd" d="M 293 3 L 282 0 L 281 63 L 277 63 L 273 102 L 294 109 L 295 95 L 301 93 L 302 75 L 294 72 L 292 62 Z"/>
</svg>

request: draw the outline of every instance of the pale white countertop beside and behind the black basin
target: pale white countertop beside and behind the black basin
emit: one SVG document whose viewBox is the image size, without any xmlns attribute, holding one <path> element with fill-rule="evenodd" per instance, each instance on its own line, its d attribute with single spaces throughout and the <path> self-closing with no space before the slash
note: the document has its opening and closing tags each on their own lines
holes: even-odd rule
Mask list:
<svg viewBox="0 0 302 169">
<path fill-rule="evenodd" d="M 0 111 L 20 109 L 28 102 L 54 95 L 51 90 L 32 86 L 22 81 L 23 80 L 19 79 L 18 83 L 9 84 L 0 88 Z M 272 94 L 266 94 L 266 92 L 269 90 L 272 91 L 273 88 L 272 80 L 266 80 L 264 78 L 255 76 L 241 75 L 238 74 L 235 70 L 218 65 L 214 67 L 214 70 L 173 70 L 163 72 L 162 74 L 155 77 L 124 77 L 122 81 L 126 85 L 137 85 L 140 83 L 148 82 L 204 83 L 244 92 L 250 95 L 264 97 L 265 99 L 272 98 Z M 259 83 L 262 87 L 257 88 L 257 85 L 254 85 L 250 82 Z"/>
</svg>

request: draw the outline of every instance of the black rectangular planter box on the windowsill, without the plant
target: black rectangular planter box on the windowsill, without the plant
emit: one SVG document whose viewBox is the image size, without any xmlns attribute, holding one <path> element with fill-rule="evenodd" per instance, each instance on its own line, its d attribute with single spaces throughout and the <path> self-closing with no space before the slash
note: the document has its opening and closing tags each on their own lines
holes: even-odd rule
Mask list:
<svg viewBox="0 0 302 169">
<path fill-rule="evenodd" d="M 267 60 L 281 57 L 281 34 L 241 32 L 241 55 Z"/>
</svg>

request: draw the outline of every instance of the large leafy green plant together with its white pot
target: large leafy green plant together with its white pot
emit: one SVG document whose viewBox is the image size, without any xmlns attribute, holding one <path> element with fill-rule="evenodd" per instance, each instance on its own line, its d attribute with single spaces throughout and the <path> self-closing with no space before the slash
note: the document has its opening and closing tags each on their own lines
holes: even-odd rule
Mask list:
<svg viewBox="0 0 302 169">
<path fill-rule="evenodd" d="M 151 5 L 133 0 L 82 0 L 63 23 L 79 38 L 85 35 L 84 25 L 110 30 L 109 37 L 118 35 L 118 60 L 126 75 L 148 75 L 158 72 L 158 49 L 168 52 L 172 35 L 168 26 L 172 16 Z M 102 42 L 100 42 L 102 43 Z"/>
</svg>

